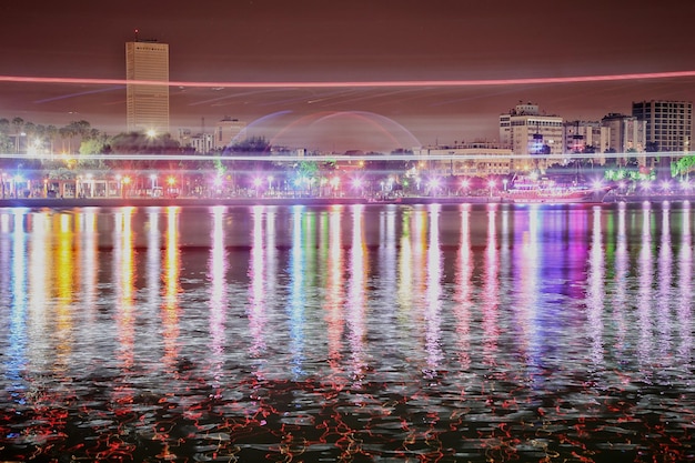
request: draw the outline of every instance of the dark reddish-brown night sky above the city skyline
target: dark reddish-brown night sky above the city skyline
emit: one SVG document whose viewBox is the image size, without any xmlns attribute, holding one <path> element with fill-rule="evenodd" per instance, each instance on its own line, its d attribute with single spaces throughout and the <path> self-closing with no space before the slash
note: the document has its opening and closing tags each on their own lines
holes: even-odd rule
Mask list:
<svg viewBox="0 0 695 463">
<path fill-rule="evenodd" d="M 403 143 L 410 139 L 396 133 L 400 127 L 424 144 L 492 141 L 498 114 L 518 101 L 565 119 L 598 120 L 608 112 L 629 113 L 632 101 L 695 100 L 692 77 L 465 88 L 194 84 L 692 71 L 691 1 L 6 1 L 0 17 L 0 76 L 123 79 L 124 42 L 135 29 L 141 39 L 169 43 L 170 79 L 191 82 L 171 89 L 172 131 L 210 128 L 223 115 L 264 118 L 254 128 L 266 133 L 255 134 L 272 139 L 293 121 L 329 114 L 342 125 L 382 121 Z M 281 117 L 269 115 L 280 111 Z M 84 119 L 115 133 L 124 130 L 125 89 L 1 82 L 0 117 L 17 115 L 59 125 Z"/>
</svg>

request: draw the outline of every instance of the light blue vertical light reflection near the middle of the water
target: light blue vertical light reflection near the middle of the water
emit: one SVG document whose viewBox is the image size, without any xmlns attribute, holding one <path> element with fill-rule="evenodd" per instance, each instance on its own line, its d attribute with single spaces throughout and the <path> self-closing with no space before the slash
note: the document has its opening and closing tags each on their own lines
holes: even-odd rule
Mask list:
<svg viewBox="0 0 695 463">
<path fill-rule="evenodd" d="M 292 207 L 292 253 L 290 254 L 290 336 L 292 352 L 292 372 L 296 376 L 304 374 L 304 246 L 303 228 L 304 207 Z"/>
</svg>

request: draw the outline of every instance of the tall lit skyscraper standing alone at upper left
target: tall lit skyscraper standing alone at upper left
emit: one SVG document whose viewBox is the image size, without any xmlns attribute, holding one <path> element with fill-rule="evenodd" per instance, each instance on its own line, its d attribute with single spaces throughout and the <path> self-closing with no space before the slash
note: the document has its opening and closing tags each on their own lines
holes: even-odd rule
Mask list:
<svg viewBox="0 0 695 463">
<path fill-rule="evenodd" d="M 128 131 L 169 133 L 169 44 L 154 40 L 125 43 Z"/>
</svg>

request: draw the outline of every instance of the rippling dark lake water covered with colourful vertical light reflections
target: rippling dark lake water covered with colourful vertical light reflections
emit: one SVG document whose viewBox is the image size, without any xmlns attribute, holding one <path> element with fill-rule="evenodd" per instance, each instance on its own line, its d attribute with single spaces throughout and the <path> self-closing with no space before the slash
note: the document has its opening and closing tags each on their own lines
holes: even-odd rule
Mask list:
<svg viewBox="0 0 695 463">
<path fill-rule="evenodd" d="M 693 215 L 0 209 L 0 460 L 695 460 Z"/>
</svg>

